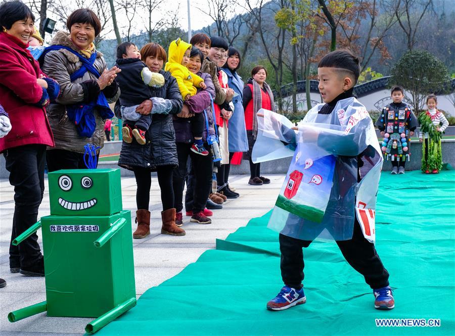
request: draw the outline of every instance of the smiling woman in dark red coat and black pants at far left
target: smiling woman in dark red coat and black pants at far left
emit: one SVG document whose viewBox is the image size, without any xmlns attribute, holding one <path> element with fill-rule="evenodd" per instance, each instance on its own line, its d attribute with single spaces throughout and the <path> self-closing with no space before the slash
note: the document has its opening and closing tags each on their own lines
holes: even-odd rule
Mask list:
<svg viewBox="0 0 455 336">
<path fill-rule="evenodd" d="M 47 78 L 27 50 L 34 16 L 20 1 L 0 5 L 0 103 L 12 129 L 0 138 L 0 153 L 14 185 L 12 238 L 37 221 L 44 192 L 46 146 L 54 146 L 45 107 L 60 87 Z M 19 246 L 10 245 L 11 272 L 44 276 L 44 264 L 36 234 Z"/>
</svg>

